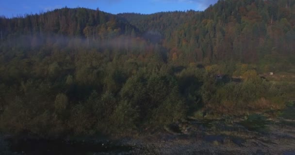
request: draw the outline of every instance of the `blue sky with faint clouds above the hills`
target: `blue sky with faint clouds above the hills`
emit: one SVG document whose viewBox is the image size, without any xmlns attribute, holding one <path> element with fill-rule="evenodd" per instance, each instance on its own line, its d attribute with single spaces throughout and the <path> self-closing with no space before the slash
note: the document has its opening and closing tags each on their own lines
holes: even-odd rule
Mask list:
<svg viewBox="0 0 295 155">
<path fill-rule="evenodd" d="M 112 14 L 204 10 L 217 0 L 0 0 L 0 16 L 12 17 L 68 8 L 99 8 Z"/>
</svg>

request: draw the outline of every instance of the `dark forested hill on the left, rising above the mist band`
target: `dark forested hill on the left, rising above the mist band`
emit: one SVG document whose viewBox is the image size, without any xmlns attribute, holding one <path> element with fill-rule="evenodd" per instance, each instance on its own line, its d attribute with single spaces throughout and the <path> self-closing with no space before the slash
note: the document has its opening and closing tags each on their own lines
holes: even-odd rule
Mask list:
<svg viewBox="0 0 295 155">
<path fill-rule="evenodd" d="M 115 15 L 99 10 L 85 8 L 63 8 L 54 11 L 1 18 L 0 29 L 4 39 L 20 34 L 55 33 L 66 36 L 90 36 L 104 39 L 106 35 L 131 34 L 129 23 L 119 20 Z"/>
</svg>

